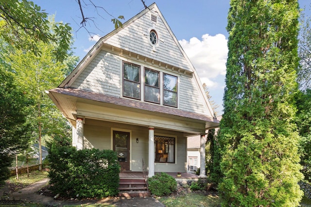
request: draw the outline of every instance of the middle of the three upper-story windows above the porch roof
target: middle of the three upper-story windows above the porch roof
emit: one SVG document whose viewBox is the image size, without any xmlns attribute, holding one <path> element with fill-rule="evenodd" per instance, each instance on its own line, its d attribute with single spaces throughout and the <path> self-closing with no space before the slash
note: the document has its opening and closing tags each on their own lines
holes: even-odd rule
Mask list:
<svg viewBox="0 0 311 207">
<path fill-rule="evenodd" d="M 159 72 L 145 68 L 145 101 L 160 103 Z"/>
</svg>

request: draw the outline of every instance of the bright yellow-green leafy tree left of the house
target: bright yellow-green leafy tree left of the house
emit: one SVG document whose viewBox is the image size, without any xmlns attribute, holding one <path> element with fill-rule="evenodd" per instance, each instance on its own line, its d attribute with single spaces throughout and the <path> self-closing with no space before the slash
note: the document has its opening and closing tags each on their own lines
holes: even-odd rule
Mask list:
<svg viewBox="0 0 311 207">
<path fill-rule="evenodd" d="M 66 130 L 64 131 L 68 128 L 65 127 L 66 120 L 45 93 L 47 89 L 57 87 L 63 80 L 66 72 L 63 68 L 67 65 L 56 60 L 53 45 L 38 42 L 36 47 L 41 51 L 40 56 L 18 49 L 6 60 L 11 64 L 18 84 L 25 91 L 25 96 L 34 100 L 28 108 L 28 122 L 34 129 L 33 136 L 37 138 L 40 147 L 43 134 L 68 135 Z"/>
</svg>

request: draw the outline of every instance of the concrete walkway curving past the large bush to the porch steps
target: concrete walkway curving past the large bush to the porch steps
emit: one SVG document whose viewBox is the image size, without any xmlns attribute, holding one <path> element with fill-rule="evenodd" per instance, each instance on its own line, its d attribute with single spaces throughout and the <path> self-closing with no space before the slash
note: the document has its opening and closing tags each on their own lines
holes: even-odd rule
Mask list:
<svg viewBox="0 0 311 207">
<path fill-rule="evenodd" d="M 81 201 L 63 201 L 63 200 L 54 200 L 52 197 L 47 197 L 44 195 L 39 195 L 36 191 L 39 191 L 41 188 L 46 186 L 48 183 L 48 179 L 45 178 L 41 181 L 33 183 L 27 186 L 24 189 L 13 192 L 6 196 L 6 199 L 9 200 L 21 200 L 25 202 L 33 202 L 43 204 L 49 207 L 57 206 L 63 207 L 67 205 L 87 205 L 87 204 L 105 204 L 112 205 L 116 207 L 165 207 L 162 203 L 157 201 L 152 197 L 113 197 L 113 198 L 105 198 L 100 200 L 81 200 Z M 0 189 L 0 198 L 8 194 L 7 186 L 4 186 Z M 0 203 L 1 204 L 1 203 Z"/>
</svg>

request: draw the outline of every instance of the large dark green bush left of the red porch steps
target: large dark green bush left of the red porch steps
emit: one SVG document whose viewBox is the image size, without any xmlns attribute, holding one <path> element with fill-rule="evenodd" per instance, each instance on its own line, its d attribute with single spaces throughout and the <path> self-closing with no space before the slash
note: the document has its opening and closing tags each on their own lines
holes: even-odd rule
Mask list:
<svg viewBox="0 0 311 207">
<path fill-rule="evenodd" d="M 118 193 L 120 164 L 112 150 L 72 146 L 49 150 L 51 191 L 64 197 L 102 198 Z"/>
</svg>

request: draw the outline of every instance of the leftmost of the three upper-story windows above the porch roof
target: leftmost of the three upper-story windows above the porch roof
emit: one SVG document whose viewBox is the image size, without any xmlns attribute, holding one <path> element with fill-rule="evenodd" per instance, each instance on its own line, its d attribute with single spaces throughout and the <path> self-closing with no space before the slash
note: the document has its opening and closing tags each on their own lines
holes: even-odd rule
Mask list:
<svg viewBox="0 0 311 207">
<path fill-rule="evenodd" d="M 123 96 L 140 100 L 140 66 L 123 62 Z"/>
</svg>

